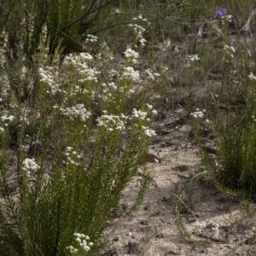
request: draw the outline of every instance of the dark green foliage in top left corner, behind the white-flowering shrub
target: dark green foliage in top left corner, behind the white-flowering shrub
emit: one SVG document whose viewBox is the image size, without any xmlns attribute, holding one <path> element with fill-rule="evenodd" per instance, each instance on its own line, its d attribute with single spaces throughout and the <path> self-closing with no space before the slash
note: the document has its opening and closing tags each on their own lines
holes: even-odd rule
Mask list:
<svg viewBox="0 0 256 256">
<path fill-rule="evenodd" d="M 6 1 L 1 3 L 0 28 L 9 33 L 11 48 L 23 47 L 28 57 L 37 50 L 44 26 L 48 27 L 49 53 L 61 43 L 65 52 L 82 50 L 84 39 L 105 19 L 116 0 L 72 1 L 40 0 L 37 3 Z M 20 43 L 24 33 L 25 40 Z"/>
</svg>

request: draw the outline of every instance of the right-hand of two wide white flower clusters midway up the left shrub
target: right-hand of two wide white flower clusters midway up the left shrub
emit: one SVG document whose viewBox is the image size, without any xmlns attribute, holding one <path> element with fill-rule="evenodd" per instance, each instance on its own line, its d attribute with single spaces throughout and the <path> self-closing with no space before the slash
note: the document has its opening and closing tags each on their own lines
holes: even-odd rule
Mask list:
<svg viewBox="0 0 256 256">
<path fill-rule="evenodd" d="M 98 126 L 105 126 L 108 131 L 122 131 L 125 129 L 125 119 L 127 117 L 123 113 L 120 117 L 118 115 L 103 114 L 96 121 Z"/>
</svg>

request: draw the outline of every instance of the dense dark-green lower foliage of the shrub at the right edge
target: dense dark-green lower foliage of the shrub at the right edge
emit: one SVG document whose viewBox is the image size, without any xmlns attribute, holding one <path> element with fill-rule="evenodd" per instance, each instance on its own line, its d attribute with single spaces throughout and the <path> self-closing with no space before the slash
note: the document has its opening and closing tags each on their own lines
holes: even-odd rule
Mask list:
<svg viewBox="0 0 256 256">
<path fill-rule="evenodd" d="M 206 159 L 206 154 L 203 155 L 206 167 L 211 170 L 216 183 L 236 191 L 235 195 L 237 193 L 250 198 L 255 195 L 256 182 L 254 99 L 247 99 L 247 106 L 240 111 L 227 113 L 221 121 L 219 118 L 216 122 L 218 164 L 214 165 Z"/>
</svg>

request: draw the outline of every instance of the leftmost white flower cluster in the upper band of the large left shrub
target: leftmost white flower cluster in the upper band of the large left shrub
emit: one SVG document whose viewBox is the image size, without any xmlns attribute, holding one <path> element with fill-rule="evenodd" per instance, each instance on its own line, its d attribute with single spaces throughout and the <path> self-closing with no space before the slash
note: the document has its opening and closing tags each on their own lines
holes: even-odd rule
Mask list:
<svg viewBox="0 0 256 256">
<path fill-rule="evenodd" d="M 58 72 L 54 71 L 53 67 L 39 67 L 38 73 L 41 77 L 40 82 L 49 84 L 50 92 L 47 91 L 48 93 L 55 95 L 57 91 L 61 91 L 60 84 L 55 81 L 58 77 Z"/>
</svg>

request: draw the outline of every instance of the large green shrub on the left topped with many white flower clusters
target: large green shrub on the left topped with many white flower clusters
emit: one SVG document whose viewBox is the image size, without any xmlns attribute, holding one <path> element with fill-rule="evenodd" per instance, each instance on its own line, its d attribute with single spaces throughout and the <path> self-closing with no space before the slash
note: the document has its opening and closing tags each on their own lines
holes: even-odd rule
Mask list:
<svg viewBox="0 0 256 256">
<path fill-rule="evenodd" d="M 23 85 L 10 88 L 4 82 L 0 91 L 5 102 L 0 112 L 1 255 L 87 255 L 96 250 L 156 135 L 150 117 L 157 111 L 143 96 L 160 74 L 135 67 L 145 41 L 143 26 L 132 28 L 141 45 L 125 50 L 124 66 L 115 64 L 104 43 L 98 54 L 61 57 L 56 51 L 49 59 L 47 30 L 29 65 L 20 53 L 13 70 L 2 55 L 2 81 L 15 72 L 12 83 Z M 88 35 L 85 44 L 96 41 Z M 144 84 L 138 84 L 142 75 Z M 10 155 L 11 143 L 15 150 Z M 130 212 L 142 203 L 148 182 L 144 168 Z"/>
</svg>

